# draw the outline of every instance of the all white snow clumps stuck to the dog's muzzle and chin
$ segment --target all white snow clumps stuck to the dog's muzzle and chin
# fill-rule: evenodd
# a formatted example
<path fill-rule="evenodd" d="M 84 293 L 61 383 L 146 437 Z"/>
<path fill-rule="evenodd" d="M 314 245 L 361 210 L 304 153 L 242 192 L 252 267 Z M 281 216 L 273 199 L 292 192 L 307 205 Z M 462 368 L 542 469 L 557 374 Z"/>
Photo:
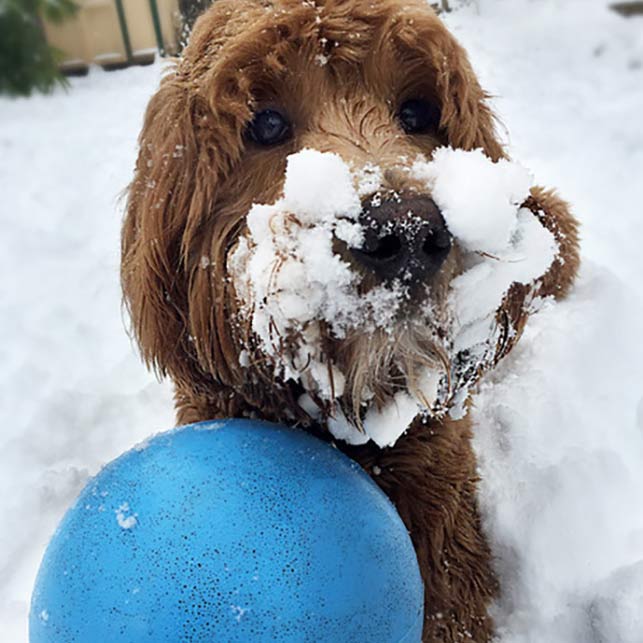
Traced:
<path fill-rule="evenodd" d="M 467 269 L 449 296 L 451 341 L 444 349 L 463 371 L 476 370 L 493 358 L 499 333 L 495 315 L 511 284 L 541 277 L 556 256 L 556 242 L 530 210 L 520 207 L 532 178 L 516 163 L 494 163 L 480 150 L 442 148 L 431 161 L 417 159 L 409 174 L 434 196 L 465 256 Z M 355 329 L 385 329 L 393 335 L 409 296 L 399 281 L 360 293 L 361 276 L 336 248 L 337 241 L 348 249 L 361 247 L 361 201 L 380 198 L 381 176 L 373 167 L 351 171 L 335 154 L 304 150 L 291 155 L 282 198 L 252 207 L 247 234 L 229 261 L 244 314 L 273 358 L 276 374 L 301 381 L 323 400 L 342 396 L 345 375 L 337 364 L 325 362 L 320 322 L 339 339 Z M 418 315 L 426 315 L 426 326 L 432 327 L 431 307 L 419 304 Z M 442 373 L 440 380 L 427 373 L 422 399 L 399 391 L 384 408 L 369 408 L 363 420 L 366 436 L 392 446 L 418 413 L 449 409 L 456 399 L 454 413 L 461 414 L 470 382 L 460 379 L 461 388 L 449 388 L 447 382 L 457 379 L 453 375 Z M 308 402 L 302 404 L 315 416 Z M 365 441 L 340 411 L 330 429 L 338 439 Z"/>

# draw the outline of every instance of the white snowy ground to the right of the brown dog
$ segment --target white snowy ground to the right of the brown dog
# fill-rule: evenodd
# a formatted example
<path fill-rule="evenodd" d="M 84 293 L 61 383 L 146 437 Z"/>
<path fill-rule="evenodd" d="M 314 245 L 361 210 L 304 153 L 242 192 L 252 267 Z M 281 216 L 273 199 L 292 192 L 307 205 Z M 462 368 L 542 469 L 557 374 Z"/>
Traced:
<path fill-rule="evenodd" d="M 531 318 L 474 398 L 502 643 L 643 641 L 643 29 L 605 5 L 482 1 L 449 17 L 512 157 L 582 222 L 573 293 Z"/>

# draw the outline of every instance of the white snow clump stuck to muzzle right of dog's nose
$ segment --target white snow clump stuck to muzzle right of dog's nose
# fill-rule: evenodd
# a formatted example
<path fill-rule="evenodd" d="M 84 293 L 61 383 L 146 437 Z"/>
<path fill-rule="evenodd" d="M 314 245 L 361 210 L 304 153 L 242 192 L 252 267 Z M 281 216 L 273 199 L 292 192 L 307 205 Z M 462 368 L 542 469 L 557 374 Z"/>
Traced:
<path fill-rule="evenodd" d="M 551 232 L 520 207 L 533 177 L 519 163 L 494 163 L 481 150 L 449 148 L 436 150 L 430 162 L 415 161 L 411 174 L 425 183 L 467 263 L 449 295 L 451 361 L 467 354 L 468 363 L 484 366 L 495 353 L 496 311 L 509 288 L 513 283 L 533 287 L 558 255 Z M 449 399 L 431 401 L 437 399 L 450 407 L 454 419 L 460 418 L 468 386 L 463 382 Z"/>

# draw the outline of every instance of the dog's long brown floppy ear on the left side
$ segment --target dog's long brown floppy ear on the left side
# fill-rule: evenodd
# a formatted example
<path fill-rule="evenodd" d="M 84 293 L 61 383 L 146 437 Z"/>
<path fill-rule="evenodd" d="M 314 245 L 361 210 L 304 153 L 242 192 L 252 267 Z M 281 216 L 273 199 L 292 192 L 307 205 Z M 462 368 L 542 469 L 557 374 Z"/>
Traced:
<path fill-rule="evenodd" d="M 124 300 L 145 362 L 179 388 L 208 393 L 239 369 L 225 279 L 234 221 L 215 206 L 243 150 L 251 96 L 239 62 L 247 42 L 230 44 L 229 32 L 251 10 L 265 13 L 253 0 L 234 3 L 220 0 L 199 18 L 148 105 L 122 232 Z M 219 55 L 224 43 L 230 51 Z"/>

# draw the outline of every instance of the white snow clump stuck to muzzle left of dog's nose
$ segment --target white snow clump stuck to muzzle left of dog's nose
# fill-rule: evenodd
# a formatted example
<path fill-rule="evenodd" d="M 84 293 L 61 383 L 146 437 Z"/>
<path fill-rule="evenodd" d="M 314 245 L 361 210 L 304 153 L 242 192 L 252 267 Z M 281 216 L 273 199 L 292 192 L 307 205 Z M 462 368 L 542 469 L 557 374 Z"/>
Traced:
<path fill-rule="evenodd" d="M 251 208 L 248 234 L 229 261 L 245 314 L 278 374 L 302 379 L 323 399 L 342 394 L 344 375 L 322 361 L 318 320 L 342 337 L 349 328 L 386 326 L 400 301 L 399 292 L 384 288 L 360 296 L 358 275 L 334 251 L 335 239 L 348 247 L 362 242 L 360 181 L 370 185 L 377 175 L 371 168 L 353 174 L 332 153 L 291 155 L 282 198 Z M 284 338 L 293 336 L 298 346 L 285 355 Z"/>

